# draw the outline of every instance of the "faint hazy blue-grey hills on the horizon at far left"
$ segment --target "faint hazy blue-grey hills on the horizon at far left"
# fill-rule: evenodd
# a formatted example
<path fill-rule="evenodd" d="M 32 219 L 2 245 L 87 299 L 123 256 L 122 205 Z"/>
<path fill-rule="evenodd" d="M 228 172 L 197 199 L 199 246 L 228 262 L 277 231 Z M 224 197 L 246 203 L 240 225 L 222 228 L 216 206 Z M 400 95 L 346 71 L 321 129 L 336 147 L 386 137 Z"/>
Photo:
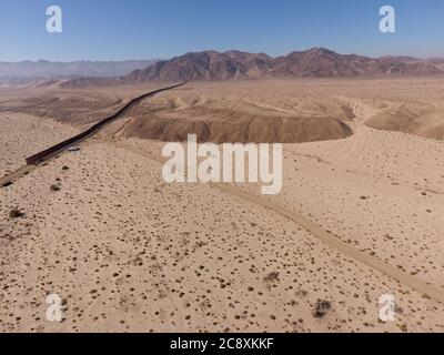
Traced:
<path fill-rule="evenodd" d="M 0 62 L 0 82 L 23 83 L 33 80 L 82 77 L 120 77 L 143 69 L 158 60 Z"/>

